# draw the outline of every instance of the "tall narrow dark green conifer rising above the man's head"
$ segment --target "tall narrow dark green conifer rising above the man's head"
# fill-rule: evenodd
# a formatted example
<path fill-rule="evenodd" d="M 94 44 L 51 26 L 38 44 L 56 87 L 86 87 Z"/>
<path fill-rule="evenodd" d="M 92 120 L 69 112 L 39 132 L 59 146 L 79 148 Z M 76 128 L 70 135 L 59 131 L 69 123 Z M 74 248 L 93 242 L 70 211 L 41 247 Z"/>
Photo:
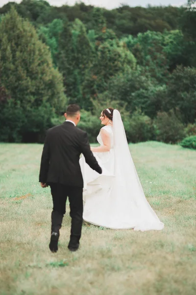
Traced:
<path fill-rule="evenodd" d="M 58 66 L 64 77 L 66 93 L 71 102 L 85 107 L 82 84 L 92 62 L 93 47 L 82 22 L 76 19 L 72 27 L 65 23 L 59 43 Z"/>

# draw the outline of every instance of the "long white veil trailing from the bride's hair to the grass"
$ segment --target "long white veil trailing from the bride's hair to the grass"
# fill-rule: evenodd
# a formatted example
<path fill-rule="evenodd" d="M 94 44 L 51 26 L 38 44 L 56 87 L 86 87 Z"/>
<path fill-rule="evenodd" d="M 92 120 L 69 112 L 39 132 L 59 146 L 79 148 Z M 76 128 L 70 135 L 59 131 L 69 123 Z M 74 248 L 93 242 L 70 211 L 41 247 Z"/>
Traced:
<path fill-rule="evenodd" d="M 130 154 L 121 114 L 118 110 L 114 110 L 113 113 L 113 135 L 116 178 L 113 192 L 121 195 L 124 205 L 129 204 L 132 207 L 135 231 L 162 230 L 164 224 L 159 220 L 145 197 Z"/>

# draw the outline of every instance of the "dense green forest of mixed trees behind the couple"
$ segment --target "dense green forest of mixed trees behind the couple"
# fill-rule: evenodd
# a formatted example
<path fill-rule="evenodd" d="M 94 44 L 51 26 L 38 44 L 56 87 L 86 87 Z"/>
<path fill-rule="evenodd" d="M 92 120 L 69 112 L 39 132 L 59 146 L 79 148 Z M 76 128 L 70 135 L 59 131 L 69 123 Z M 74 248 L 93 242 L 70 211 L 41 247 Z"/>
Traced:
<path fill-rule="evenodd" d="M 192 1 L 193 3 L 194 1 Z M 66 106 L 96 140 L 103 108 L 127 139 L 176 143 L 196 134 L 196 9 L 113 10 L 45 0 L 0 8 L 0 141 L 42 142 Z"/>

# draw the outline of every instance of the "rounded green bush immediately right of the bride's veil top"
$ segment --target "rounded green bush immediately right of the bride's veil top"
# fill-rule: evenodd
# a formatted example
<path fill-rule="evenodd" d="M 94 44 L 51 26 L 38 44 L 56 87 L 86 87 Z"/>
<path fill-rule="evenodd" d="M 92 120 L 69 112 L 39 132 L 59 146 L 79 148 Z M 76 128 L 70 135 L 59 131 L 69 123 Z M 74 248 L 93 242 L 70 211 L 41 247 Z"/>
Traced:
<path fill-rule="evenodd" d="M 124 128 L 127 140 L 132 143 L 145 142 L 154 137 L 153 121 L 144 115 L 141 110 L 135 111 L 128 121 L 125 120 Z"/>

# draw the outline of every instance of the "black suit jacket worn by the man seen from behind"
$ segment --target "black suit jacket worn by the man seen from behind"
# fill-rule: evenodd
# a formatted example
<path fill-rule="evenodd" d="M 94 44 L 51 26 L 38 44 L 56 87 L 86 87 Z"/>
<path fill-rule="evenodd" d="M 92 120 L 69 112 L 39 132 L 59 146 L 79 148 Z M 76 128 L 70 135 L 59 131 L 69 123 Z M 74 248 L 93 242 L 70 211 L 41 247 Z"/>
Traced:
<path fill-rule="evenodd" d="M 102 170 L 90 149 L 86 132 L 66 121 L 49 129 L 42 152 L 39 181 L 83 187 L 79 165 L 81 153 L 86 163 L 101 174 Z"/>

